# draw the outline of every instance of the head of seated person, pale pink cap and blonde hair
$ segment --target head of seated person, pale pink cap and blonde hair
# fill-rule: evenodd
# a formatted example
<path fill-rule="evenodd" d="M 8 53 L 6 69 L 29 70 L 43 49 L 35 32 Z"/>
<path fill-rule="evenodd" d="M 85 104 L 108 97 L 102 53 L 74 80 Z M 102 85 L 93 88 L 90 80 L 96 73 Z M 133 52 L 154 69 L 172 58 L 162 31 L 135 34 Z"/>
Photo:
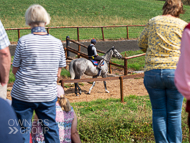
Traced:
<path fill-rule="evenodd" d="M 64 97 L 64 90 L 60 85 L 57 85 L 57 97 L 58 97 L 58 103 L 61 106 L 63 111 L 71 111 L 71 105 L 69 103 L 69 100 Z"/>

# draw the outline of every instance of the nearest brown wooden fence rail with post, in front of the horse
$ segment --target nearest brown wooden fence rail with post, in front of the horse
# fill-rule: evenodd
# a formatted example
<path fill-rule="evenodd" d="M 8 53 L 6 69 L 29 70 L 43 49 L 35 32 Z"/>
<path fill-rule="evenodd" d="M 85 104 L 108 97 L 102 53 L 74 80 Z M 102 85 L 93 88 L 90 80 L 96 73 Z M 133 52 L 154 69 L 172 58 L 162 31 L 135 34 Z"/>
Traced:
<path fill-rule="evenodd" d="M 107 80 L 120 80 L 120 96 L 121 102 L 124 102 L 124 92 L 123 92 L 123 80 L 131 78 L 141 78 L 144 74 L 126 75 L 120 77 L 107 77 L 107 78 L 85 78 L 85 79 L 63 79 L 61 80 L 61 86 L 64 88 L 64 83 L 78 83 L 78 82 L 93 82 L 93 81 L 107 81 Z"/>

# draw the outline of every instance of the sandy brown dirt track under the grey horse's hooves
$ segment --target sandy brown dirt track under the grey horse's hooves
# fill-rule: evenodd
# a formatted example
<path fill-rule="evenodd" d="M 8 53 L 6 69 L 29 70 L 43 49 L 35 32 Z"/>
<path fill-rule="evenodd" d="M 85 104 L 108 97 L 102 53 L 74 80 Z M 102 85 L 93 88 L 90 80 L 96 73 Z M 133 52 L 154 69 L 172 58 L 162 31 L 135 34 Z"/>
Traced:
<path fill-rule="evenodd" d="M 118 69 L 113 69 L 113 75 L 114 74 L 122 75 L 123 71 Z M 83 75 L 81 78 L 90 78 L 85 75 Z M 82 85 L 80 85 L 82 89 L 82 94 L 79 97 L 75 96 L 74 92 L 74 85 L 69 86 L 68 88 L 64 88 L 65 90 L 65 96 L 69 99 L 70 102 L 81 102 L 81 101 L 92 101 L 96 99 L 107 99 L 107 98 L 120 98 L 120 81 L 119 80 L 112 80 L 107 81 L 107 89 L 110 93 L 106 93 L 104 89 L 104 84 L 102 81 L 97 81 L 94 88 L 91 91 L 91 94 L 88 94 L 88 91 L 90 87 L 92 86 L 91 83 L 84 82 Z M 129 95 L 137 95 L 137 96 L 143 96 L 148 95 L 144 84 L 143 84 L 143 78 L 139 79 L 124 79 L 123 81 L 124 86 L 124 96 Z M 10 92 L 12 87 L 8 87 L 7 91 L 7 98 L 11 99 Z"/>

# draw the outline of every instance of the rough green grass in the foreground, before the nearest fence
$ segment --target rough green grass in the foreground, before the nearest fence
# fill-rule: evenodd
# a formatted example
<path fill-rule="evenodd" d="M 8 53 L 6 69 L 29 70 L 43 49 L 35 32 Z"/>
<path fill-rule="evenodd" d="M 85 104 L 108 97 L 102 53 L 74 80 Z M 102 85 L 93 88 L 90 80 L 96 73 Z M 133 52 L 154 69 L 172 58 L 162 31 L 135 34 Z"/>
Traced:
<path fill-rule="evenodd" d="M 78 117 L 82 142 L 147 143 L 155 142 L 149 96 L 130 95 L 120 99 L 98 99 L 72 103 Z M 183 142 L 188 142 L 185 100 L 182 111 Z"/>

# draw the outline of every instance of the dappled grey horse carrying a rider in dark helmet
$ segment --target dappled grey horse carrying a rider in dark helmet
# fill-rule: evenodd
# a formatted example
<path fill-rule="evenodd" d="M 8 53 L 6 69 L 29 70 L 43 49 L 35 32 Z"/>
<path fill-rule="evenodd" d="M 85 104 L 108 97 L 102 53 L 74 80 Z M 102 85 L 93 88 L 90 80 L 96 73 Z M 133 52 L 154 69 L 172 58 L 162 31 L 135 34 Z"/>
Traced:
<path fill-rule="evenodd" d="M 105 53 L 104 56 L 102 56 L 105 59 L 104 65 L 101 67 L 102 70 L 100 73 L 100 75 L 103 78 L 107 77 L 108 65 L 109 65 L 109 61 L 111 60 L 112 56 L 116 57 L 116 58 L 122 58 L 121 54 L 114 48 L 114 46 L 111 49 L 109 49 Z M 71 61 L 70 65 L 69 65 L 69 72 L 71 74 L 71 79 L 80 79 L 80 77 L 83 74 L 86 74 L 88 76 L 93 76 L 93 78 L 97 78 L 99 70 L 93 65 L 93 63 L 90 60 L 84 59 L 84 58 L 79 58 L 79 59 L 75 59 L 75 60 Z M 95 81 L 93 82 L 93 84 L 88 92 L 89 94 L 94 86 L 95 86 Z M 109 93 L 109 91 L 107 90 L 107 87 L 106 87 L 106 81 L 104 81 L 104 87 L 105 87 L 105 91 L 107 93 Z M 79 87 L 78 83 L 75 83 L 76 96 L 78 96 L 77 88 L 79 89 L 79 94 L 81 94 L 81 88 Z"/>

